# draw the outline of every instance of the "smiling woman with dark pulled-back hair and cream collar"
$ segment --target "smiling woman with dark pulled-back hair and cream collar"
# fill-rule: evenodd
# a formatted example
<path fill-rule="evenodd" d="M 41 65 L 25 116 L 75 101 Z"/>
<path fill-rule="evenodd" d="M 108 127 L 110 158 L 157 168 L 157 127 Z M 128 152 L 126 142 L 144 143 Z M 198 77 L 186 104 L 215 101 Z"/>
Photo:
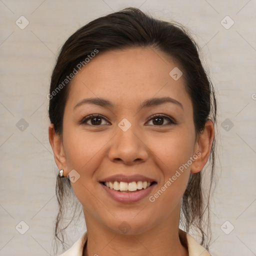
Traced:
<path fill-rule="evenodd" d="M 210 158 L 213 177 L 216 103 L 183 28 L 136 8 L 89 22 L 62 46 L 48 98 L 55 236 L 69 190 L 87 229 L 61 255 L 209 255 L 201 170 Z"/>

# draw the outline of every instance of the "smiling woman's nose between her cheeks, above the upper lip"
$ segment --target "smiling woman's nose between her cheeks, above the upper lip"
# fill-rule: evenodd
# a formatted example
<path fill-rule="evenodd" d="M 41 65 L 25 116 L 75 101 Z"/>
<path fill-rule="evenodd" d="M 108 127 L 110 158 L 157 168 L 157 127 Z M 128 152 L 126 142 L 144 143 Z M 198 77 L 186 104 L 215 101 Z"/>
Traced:
<path fill-rule="evenodd" d="M 126 131 L 117 127 L 116 132 L 108 150 L 108 158 L 111 161 L 132 165 L 147 160 L 148 148 L 143 136 L 139 135 L 133 125 Z"/>

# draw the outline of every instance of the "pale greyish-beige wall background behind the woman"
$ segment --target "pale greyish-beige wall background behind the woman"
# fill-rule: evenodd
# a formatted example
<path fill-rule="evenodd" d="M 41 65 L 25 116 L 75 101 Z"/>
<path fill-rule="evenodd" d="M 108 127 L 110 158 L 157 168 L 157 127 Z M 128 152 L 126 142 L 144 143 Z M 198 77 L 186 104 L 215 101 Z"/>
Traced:
<path fill-rule="evenodd" d="M 0 0 L 0 255 L 53 255 L 57 168 L 47 134 L 50 73 L 71 33 L 127 6 L 184 24 L 202 47 L 218 99 L 211 253 L 256 255 L 255 0 Z M 29 21 L 24 28 L 21 15 Z M 69 246 L 82 223 L 68 229 Z"/>

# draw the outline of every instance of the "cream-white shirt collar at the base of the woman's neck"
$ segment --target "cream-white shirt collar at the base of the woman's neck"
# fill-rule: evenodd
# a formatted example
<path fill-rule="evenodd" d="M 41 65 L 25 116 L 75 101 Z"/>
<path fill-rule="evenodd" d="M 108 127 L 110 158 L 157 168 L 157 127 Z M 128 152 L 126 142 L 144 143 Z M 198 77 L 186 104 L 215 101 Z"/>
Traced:
<path fill-rule="evenodd" d="M 187 244 L 189 256 L 210 256 L 206 249 L 204 249 L 191 235 L 179 230 L 179 235 Z M 80 238 L 64 253 L 59 256 L 82 256 L 83 246 L 87 240 L 87 231 L 85 231 Z"/>

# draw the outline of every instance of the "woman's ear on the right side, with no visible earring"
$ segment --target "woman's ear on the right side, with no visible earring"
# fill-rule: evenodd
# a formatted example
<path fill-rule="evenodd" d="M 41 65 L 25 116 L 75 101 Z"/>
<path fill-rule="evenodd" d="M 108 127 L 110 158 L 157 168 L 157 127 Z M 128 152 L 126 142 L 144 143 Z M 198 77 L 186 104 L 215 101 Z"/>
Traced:
<path fill-rule="evenodd" d="M 191 164 L 190 172 L 197 173 L 202 170 L 206 164 L 211 150 L 214 138 L 214 125 L 211 120 L 206 121 L 203 131 L 198 134 L 194 145 L 194 161 Z M 197 153 L 196 153 L 197 152 Z"/>

